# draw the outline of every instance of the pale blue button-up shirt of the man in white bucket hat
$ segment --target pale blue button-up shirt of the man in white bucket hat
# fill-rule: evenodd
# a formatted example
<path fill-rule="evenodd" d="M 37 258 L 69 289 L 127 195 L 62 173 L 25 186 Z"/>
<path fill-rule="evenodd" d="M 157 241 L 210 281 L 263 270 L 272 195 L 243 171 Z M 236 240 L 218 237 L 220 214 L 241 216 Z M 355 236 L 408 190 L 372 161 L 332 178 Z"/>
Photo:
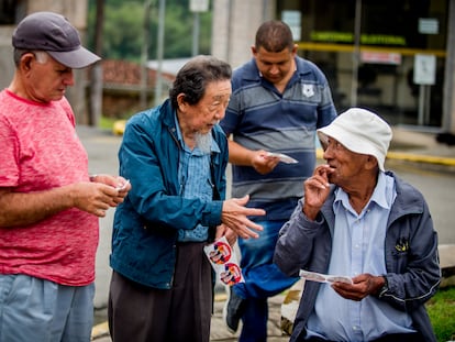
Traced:
<path fill-rule="evenodd" d="M 386 274 L 385 238 L 387 218 L 397 196 L 393 178 L 380 172 L 369 202 L 357 214 L 346 192 L 336 190 L 336 216 L 332 239 L 331 275 Z M 308 320 L 308 333 L 331 341 L 369 341 L 387 333 L 408 333 L 412 320 L 406 312 L 374 296 L 360 301 L 341 297 L 329 284 L 322 284 L 314 311 Z"/>

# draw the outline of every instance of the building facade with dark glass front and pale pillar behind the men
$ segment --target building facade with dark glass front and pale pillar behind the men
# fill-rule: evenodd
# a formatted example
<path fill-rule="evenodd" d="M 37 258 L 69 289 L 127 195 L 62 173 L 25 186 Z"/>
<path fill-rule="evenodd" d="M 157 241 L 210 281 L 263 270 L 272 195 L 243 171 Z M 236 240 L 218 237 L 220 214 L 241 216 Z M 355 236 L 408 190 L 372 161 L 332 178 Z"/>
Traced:
<path fill-rule="evenodd" d="M 299 55 L 324 70 L 341 112 L 455 132 L 455 0 L 213 0 L 212 54 L 251 58 L 258 25 L 287 22 Z"/>

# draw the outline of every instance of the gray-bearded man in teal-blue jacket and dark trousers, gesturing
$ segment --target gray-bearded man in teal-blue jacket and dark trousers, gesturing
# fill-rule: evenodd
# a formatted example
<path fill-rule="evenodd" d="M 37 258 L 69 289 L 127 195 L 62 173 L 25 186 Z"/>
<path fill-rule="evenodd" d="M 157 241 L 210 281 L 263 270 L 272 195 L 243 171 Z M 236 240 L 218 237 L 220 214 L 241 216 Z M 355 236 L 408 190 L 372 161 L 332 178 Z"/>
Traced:
<path fill-rule="evenodd" d="M 217 236 L 257 238 L 247 197 L 224 199 L 228 141 L 219 121 L 231 67 L 197 56 L 169 99 L 134 115 L 119 151 L 132 190 L 115 211 L 109 296 L 112 340 L 210 340 L 212 269 L 203 247 Z M 253 229 L 253 230 L 252 230 Z"/>

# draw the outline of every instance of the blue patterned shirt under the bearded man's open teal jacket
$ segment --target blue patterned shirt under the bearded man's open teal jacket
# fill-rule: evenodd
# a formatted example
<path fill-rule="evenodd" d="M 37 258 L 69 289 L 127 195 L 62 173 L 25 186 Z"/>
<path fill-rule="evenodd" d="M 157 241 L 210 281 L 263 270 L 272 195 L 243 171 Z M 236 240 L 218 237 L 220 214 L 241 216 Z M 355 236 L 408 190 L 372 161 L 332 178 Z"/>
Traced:
<path fill-rule="evenodd" d="M 191 151 L 184 142 L 178 124 L 176 126 L 177 137 L 181 146 L 178 166 L 180 196 L 184 198 L 199 198 L 201 201 L 211 201 L 213 199 L 213 184 L 210 172 L 211 155 L 210 153 L 202 153 L 198 147 Z M 210 150 L 211 153 L 220 153 L 220 147 L 214 140 L 212 140 Z M 180 242 L 202 242 L 207 241 L 208 238 L 209 230 L 201 224 L 193 229 L 189 227 L 178 232 L 178 241 Z"/>

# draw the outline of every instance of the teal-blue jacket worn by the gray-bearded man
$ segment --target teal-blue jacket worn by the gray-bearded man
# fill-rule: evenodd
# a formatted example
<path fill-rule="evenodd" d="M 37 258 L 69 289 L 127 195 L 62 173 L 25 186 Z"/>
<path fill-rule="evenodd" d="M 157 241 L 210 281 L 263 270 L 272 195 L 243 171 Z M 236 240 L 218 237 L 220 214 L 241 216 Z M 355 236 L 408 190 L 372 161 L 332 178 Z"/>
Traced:
<path fill-rule="evenodd" d="M 179 144 L 170 101 L 132 117 L 119 150 L 120 175 L 132 189 L 114 216 L 110 265 L 145 286 L 173 286 L 179 229 L 221 223 L 225 197 L 228 140 L 220 126 L 212 134 L 220 153 L 211 157 L 213 201 L 179 196 Z"/>

